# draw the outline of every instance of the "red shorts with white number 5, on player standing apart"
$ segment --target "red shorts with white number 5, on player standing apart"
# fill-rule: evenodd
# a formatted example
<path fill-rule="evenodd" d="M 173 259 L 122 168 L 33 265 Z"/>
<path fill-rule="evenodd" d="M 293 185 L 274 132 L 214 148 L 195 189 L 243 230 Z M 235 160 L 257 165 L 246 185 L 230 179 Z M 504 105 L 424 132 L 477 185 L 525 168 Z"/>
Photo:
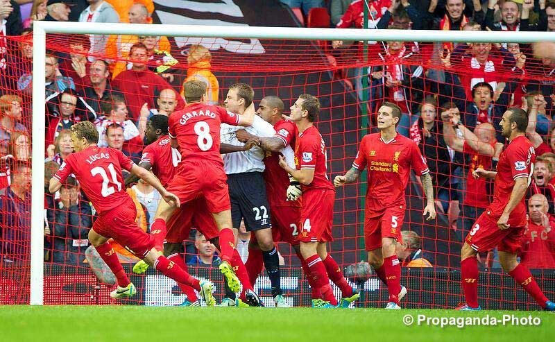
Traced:
<path fill-rule="evenodd" d="M 382 238 L 391 237 L 402 243 L 401 227 L 404 220 L 404 207 L 386 208 L 380 216 L 364 219 L 364 247 L 366 250 L 382 248 Z"/>

